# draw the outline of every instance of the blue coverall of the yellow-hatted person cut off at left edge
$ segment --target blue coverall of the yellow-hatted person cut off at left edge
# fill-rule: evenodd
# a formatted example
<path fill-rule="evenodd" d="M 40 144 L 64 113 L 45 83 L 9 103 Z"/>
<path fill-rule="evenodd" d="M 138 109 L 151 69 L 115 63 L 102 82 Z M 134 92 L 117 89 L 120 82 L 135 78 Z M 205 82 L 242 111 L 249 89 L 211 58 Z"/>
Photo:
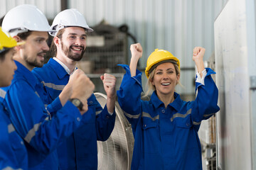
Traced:
<path fill-rule="evenodd" d="M 5 91 L 0 89 L 0 98 Z M 2 100 L 1 100 L 2 101 Z M 28 152 L 23 140 L 9 118 L 9 112 L 0 101 L 0 169 L 28 169 Z"/>

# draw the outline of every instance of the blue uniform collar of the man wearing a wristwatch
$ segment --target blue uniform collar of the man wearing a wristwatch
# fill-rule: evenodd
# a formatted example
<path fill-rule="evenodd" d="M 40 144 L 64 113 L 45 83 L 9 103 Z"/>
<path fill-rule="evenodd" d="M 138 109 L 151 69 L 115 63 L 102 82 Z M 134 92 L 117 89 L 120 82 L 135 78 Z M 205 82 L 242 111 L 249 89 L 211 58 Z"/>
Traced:
<path fill-rule="evenodd" d="M 14 60 L 14 62 L 17 66 L 14 77 L 21 75 L 22 77 L 24 77 L 24 79 L 26 79 L 26 81 L 28 81 L 29 84 L 31 84 L 31 86 L 35 87 L 38 83 L 38 79 L 36 79 L 33 73 L 29 71 L 29 69 L 27 69 L 25 66 L 23 66 L 23 64 L 21 64 L 20 62 L 17 62 L 16 60 Z"/>

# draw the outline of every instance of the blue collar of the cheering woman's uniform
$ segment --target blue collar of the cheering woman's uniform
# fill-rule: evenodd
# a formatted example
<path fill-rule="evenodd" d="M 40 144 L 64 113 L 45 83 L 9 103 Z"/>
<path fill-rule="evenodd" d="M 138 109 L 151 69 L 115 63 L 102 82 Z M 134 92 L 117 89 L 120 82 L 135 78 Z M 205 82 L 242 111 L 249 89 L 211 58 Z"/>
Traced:
<path fill-rule="evenodd" d="M 177 94 L 176 92 L 174 92 L 174 98 L 175 100 L 172 103 L 169 103 L 169 106 L 174 108 L 176 111 L 179 111 L 179 108 L 181 108 L 181 98 L 179 94 Z M 151 95 L 151 102 L 153 103 L 155 108 L 159 108 L 159 106 L 161 105 L 164 106 L 164 103 L 160 101 L 159 98 L 157 97 L 156 91 L 154 91 L 153 94 Z"/>

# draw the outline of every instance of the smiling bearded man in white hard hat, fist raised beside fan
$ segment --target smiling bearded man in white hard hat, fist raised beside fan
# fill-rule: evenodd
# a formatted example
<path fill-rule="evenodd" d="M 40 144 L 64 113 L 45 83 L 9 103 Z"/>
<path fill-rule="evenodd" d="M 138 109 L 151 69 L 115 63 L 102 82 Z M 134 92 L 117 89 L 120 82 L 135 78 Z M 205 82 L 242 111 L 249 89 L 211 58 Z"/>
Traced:
<path fill-rule="evenodd" d="M 77 9 L 58 13 L 51 26 L 56 32 L 52 47 L 57 50 L 53 58 L 33 73 L 43 82 L 51 100 L 58 97 L 76 69 L 75 64 L 85 52 L 87 32 L 92 29 Z M 99 77 L 107 94 L 107 103 L 102 109 L 92 94 L 88 98 L 89 111 L 83 115 L 83 124 L 58 147 L 60 169 L 97 169 L 97 140 L 105 141 L 114 128 L 116 100 L 116 78 L 110 74 Z"/>

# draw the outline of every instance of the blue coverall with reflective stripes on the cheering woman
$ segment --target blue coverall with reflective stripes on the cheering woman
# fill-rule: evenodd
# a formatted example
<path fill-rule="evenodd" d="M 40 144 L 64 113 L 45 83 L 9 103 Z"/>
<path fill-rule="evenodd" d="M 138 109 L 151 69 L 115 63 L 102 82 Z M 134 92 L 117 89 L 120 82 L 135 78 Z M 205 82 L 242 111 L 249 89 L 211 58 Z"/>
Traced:
<path fill-rule="evenodd" d="M 123 65 L 122 84 L 117 91 L 118 102 L 134 134 L 132 169 L 202 169 L 201 143 L 198 129 L 202 120 L 219 111 L 218 89 L 210 74 L 204 85 L 196 83 L 198 95 L 195 101 L 182 101 L 174 93 L 174 102 L 165 108 L 164 103 L 151 95 L 150 101 L 142 101 L 142 73 L 137 70 L 131 77 L 129 66 Z"/>

